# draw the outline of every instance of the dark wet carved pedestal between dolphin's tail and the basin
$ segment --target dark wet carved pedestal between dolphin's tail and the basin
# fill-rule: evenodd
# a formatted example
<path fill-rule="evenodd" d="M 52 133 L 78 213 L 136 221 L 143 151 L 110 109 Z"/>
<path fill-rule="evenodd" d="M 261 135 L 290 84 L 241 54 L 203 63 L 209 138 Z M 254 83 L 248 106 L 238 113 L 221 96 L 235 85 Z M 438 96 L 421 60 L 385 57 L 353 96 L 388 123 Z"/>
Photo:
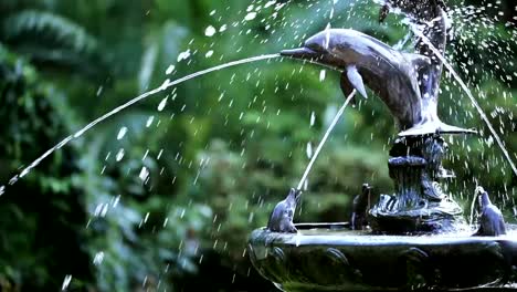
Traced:
<path fill-rule="evenodd" d="M 442 167 L 447 149 L 440 135 L 399 138 L 388 166 L 395 194 L 381 195 L 369 211 L 379 233 L 449 232 L 465 223 L 462 208 L 442 191 L 439 180 L 454 177 Z"/>

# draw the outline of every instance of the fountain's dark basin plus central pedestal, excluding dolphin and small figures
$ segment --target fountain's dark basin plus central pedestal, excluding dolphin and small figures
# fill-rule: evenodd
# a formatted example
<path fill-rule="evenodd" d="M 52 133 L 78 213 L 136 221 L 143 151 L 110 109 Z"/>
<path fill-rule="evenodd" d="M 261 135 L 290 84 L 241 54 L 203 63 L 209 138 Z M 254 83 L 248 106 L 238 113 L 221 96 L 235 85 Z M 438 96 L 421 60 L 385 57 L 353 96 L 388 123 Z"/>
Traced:
<path fill-rule="evenodd" d="M 442 167 L 446 148 L 440 135 L 394 143 L 388 165 L 395 192 L 369 210 L 373 232 L 350 223 L 296 225 L 297 233 L 257 229 L 247 246 L 253 265 L 289 292 L 517 291 L 516 228 L 472 237 L 439 182 L 454 177 Z"/>

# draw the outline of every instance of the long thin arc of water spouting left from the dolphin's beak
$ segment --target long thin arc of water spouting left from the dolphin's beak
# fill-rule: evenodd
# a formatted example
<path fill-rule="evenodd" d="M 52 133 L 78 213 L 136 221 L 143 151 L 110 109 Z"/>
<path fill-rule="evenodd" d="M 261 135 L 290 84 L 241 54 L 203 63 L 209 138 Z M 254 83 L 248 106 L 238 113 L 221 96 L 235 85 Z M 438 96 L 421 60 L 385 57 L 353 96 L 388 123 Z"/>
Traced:
<path fill-rule="evenodd" d="M 19 175 L 15 175 L 14 177 L 12 177 L 9 180 L 9 185 L 14 185 L 20 178 L 28 175 L 34 167 L 36 167 L 43 159 L 49 157 L 52 153 L 60 149 L 61 147 L 63 147 L 64 145 L 66 145 L 71 140 L 81 137 L 85 132 L 93 128 L 95 125 L 99 124 L 101 122 L 105 121 L 106 118 L 117 114 L 118 112 L 120 112 L 120 111 L 123 111 L 123 109 L 125 109 L 125 108 L 127 108 L 127 107 L 129 107 L 129 106 L 131 106 L 131 105 L 134 105 L 134 104 L 136 104 L 136 103 L 151 96 L 151 95 L 155 95 L 155 94 L 157 94 L 157 93 L 159 93 L 161 91 L 165 91 L 165 90 L 167 90 L 167 88 L 169 88 L 171 86 L 178 85 L 178 84 L 180 84 L 182 82 L 186 82 L 186 81 L 189 81 L 191 79 L 196 79 L 196 77 L 199 77 L 199 76 L 202 76 L 202 75 L 205 75 L 208 73 L 215 72 L 215 71 L 219 71 L 219 70 L 222 70 L 222 69 L 225 69 L 225 67 L 236 66 L 236 65 L 246 64 L 246 63 L 251 63 L 251 62 L 256 62 L 256 61 L 261 61 L 261 60 L 270 60 L 270 59 L 274 59 L 274 58 L 278 58 L 278 56 L 279 56 L 279 54 L 264 54 L 264 55 L 252 56 L 252 58 L 247 58 L 247 59 L 242 59 L 242 60 L 238 60 L 238 61 L 228 62 L 228 63 L 224 63 L 224 64 L 221 64 L 221 65 L 218 65 L 218 66 L 213 66 L 213 67 L 209 67 L 209 69 L 205 69 L 205 70 L 201 70 L 201 71 L 198 71 L 198 72 L 192 73 L 190 75 L 183 76 L 181 79 L 177 79 L 175 81 L 166 80 L 166 82 L 163 82 L 163 84 L 161 86 L 156 87 L 155 90 L 151 90 L 149 92 L 143 93 L 141 95 L 139 95 L 139 96 L 130 100 L 129 102 L 127 102 L 127 103 L 112 109 L 110 112 L 106 113 L 105 115 L 103 115 L 103 116 L 98 117 L 97 119 L 93 121 L 92 123 L 87 124 L 82 129 L 77 131 L 75 134 L 70 135 L 66 138 L 64 138 L 62 142 L 56 144 L 51 149 L 46 150 L 42 156 L 40 156 L 32 164 L 30 164 L 28 167 L 25 167 Z M 0 196 L 3 195 L 4 191 L 6 191 L 6 186 L 0 186 Z"/>

